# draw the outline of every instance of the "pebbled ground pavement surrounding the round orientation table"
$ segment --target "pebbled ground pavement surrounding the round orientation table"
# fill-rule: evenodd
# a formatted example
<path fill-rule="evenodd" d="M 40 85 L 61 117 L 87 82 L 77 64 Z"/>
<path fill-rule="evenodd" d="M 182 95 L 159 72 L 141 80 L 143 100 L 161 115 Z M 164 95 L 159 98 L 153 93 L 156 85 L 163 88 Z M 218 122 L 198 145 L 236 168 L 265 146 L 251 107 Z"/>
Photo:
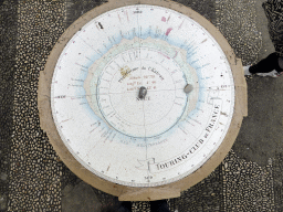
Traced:
<path fill-rule="evenodd" d="M 210 20 L 243 64 L 273 51 L 260 1 L 177 0 Z M 36 106 L 39 73 L 56 40 L 103 2 L 0 0 L 0 211 L 99 211 L 117 203 L 64 166 Z M 232 150 L 208 178 L 168 200 L 171 211 L 283 211 L 282 80 L 248 80 L 249 116 Z M 148 203 L 133 209 L 148 211 Z"/>

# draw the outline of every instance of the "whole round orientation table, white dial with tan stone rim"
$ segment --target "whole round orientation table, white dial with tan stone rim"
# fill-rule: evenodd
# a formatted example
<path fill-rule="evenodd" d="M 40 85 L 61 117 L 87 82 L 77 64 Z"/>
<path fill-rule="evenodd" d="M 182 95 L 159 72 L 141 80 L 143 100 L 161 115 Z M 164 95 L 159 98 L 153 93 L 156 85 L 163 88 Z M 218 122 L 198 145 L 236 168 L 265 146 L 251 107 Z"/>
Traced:
<path fill-rule="evenodd" d="M 168 1 L 109 1 L 75 21 L 40 74 L 41 127 L 81 179 L 120 200 L 180 195 L 230 150 L 247 109 L 220 32 Z"/>

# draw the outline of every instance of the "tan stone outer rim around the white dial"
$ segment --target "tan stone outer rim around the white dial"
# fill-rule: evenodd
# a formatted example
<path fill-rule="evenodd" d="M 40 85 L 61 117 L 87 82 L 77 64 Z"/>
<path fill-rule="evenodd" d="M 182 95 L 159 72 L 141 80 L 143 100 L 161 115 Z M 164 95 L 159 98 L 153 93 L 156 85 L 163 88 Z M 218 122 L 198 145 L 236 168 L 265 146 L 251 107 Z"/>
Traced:
<path fill-rule="evenodd" d="M 52 76 L 57 59 L 69 40 L 76 33 L 76 31 L 78 31 L 84 24 L 86 24 L 95 17 L 107 12 L 108 10 L 133 4 L 153 4 L 169 8 L 176 10 L 177 12 L 184 13 L 185 15 L 191 18 L 200 25 L 202 25 L 216 39 L 216 41 L 223 50 L 232 70 L 235 88 L 235 105 L 231 125 L 226 135 L 226 138 L 223 139 L 222 144 L 214 152 L 214 155 L 201 168 L 199 168 L 197 171 L 189 174 L 188 177 L 177 182 L 155 188 L 132 188 L 116 184 L 106 181 L 85 169 L 78 161 L 75 160 L 75 158 L 71 155 L 71 152 L 66 149 L 63 141 L 61 140 L 51 112 L 50 98 Z M 77 177 L 80 177 L 88 184 L 106 193 L 119 197 L 119 200 L 122 201 L 150 201 L 179 197 L 181 191 L 189 189 L 193 184 L 205 179 L 221 163 L 237 138 L 243 117 L 248 115 L 247 83 L 243 76 L 242 63 L 240 60 L 235 59 L 233 50 L 228 44 L 227 40 L 208 20 L 206 20 L 203 17 L 201 17 L 190 8 L 187 8 L 176 2 L 163 0 L 111 0 L 109 2 L 91 10 L 90 12 L 77 19 L 59 39 L 57 43 L 55 44 L 49 56 L 44 71 L 40 73 L 38 105 L 41 128 L 46 131 L 48 137 L 50 138 L 50 142 L 52 144 L 54 150 L 63 160 L 63 162 Z"/>

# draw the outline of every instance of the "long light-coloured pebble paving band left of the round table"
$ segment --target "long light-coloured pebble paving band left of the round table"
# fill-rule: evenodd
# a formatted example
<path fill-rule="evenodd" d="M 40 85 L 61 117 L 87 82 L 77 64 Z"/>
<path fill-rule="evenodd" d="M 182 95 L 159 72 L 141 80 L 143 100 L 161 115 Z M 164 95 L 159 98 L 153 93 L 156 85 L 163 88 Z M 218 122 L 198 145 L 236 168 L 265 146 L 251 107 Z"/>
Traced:
<path fill-rule="evenodd" d="M 8 211 L 61 210 L 62 162 L 40 128 L 36 88 L 63 10 L 63 1 L 19 1 Z"/>

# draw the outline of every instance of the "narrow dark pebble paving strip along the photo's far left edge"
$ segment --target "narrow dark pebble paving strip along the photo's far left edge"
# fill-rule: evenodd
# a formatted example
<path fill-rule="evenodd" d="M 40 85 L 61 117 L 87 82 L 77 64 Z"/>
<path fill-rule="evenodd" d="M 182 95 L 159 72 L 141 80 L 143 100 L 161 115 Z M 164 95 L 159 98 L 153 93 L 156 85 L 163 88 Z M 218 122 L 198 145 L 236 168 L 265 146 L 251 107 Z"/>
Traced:
<path fill-rule="evenodd" d="M 17 6 L 0 1 L 0 211 L 7 209 L 9 194 L 9 153 L 12 134 L 13 74 L 15 65 Z"/>

